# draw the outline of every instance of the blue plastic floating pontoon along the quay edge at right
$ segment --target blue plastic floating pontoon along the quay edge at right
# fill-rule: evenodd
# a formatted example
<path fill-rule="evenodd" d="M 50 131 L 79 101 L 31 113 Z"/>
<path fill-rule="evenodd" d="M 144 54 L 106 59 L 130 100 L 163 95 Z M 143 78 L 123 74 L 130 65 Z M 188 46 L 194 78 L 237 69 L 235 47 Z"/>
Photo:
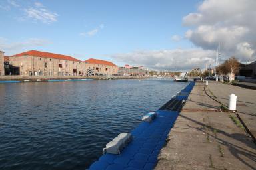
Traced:
<path fill-rule="evenodd" d="M 106 153 L 95 161 L 89 169 L 153 169 L 157 163 L 157 156 L 165 145 L 167 135 L 179 116 L 183 102 L 187 100 L 194 82 L 173 96 L 169 102 L 157 110 L 157 117 L 153 122 L 141 122 L 131 131 L 131 143 L 119 155 Z"/>

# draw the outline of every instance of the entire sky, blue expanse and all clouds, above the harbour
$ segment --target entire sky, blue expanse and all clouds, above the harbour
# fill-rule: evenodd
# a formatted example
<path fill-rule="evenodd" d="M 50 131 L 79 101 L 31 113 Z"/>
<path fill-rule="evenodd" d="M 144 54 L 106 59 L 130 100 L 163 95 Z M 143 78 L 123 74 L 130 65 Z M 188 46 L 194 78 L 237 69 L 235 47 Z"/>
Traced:
<path fill-rule="evenodd" d="M 0 0 L 0 50 L 191 70 L 256 59 L 255 0 Z"/>

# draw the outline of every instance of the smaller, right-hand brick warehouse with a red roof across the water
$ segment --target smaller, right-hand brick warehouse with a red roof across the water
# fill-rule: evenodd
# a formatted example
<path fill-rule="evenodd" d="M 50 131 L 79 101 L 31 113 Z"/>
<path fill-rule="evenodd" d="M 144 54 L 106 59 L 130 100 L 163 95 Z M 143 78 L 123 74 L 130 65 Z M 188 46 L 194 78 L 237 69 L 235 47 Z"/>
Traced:
<path fill-rule="evenodd" d="M 118 66 L 113 62 L 90 58 L 84 63 L 86 76 L 115 76 L 118 72 Z"/>

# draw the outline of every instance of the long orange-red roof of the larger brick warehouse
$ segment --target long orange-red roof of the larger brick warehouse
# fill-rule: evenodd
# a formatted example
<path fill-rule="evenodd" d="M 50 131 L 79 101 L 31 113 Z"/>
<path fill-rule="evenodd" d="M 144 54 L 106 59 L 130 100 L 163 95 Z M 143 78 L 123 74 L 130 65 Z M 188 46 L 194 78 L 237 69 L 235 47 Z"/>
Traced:
<path fill-rule="evenodd" d="M 15 54 L 13 56 L 24 56 L 24 55 L 82 62 L 81 60 L 77 60 L 76 58 L 73 58 L 72 56 L 65 56 L 65 55 L 61 55 L 61 54 L 53 54 L 53 53 L 50 53 L 50 52 L 41 52 L 41 51 L 37 51 L 37 50 L 29 50 L 27 52 L 22 52 L 20 54 Z M 13 56 L 11 56 L 11 57 L 13 57 Z"/>

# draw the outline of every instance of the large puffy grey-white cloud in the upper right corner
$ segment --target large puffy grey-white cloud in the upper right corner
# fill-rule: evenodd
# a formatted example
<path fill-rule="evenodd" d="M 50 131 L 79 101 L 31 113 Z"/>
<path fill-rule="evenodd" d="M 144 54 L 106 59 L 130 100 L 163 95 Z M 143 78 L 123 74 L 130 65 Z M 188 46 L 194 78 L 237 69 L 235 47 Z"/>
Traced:
<path fill-rule="evenodd" d="M 183 25 L 194 27 L 185 37 L 206 50 L 215 50 L 221 44 L 226 57 L 255 60 L 255 7 L 255 0 L 205 0 L 197 12 L 183 17 Z"/>

